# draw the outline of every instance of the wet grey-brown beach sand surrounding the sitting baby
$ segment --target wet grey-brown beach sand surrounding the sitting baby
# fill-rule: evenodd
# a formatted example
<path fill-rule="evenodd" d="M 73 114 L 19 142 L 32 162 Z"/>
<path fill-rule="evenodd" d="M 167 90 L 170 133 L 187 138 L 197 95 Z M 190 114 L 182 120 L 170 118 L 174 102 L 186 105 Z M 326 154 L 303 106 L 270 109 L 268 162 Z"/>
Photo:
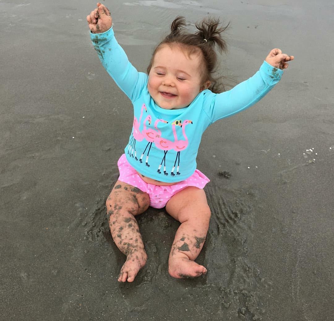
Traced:
<path fill-rule="evenodd" d="M 149 209 L 138 218 L 147 265 L 119 284 L 125 256 L 104 203 L 133 116 L 90 42 L 95 3 L 0 1 L 0 319 L 332 320 L 333 4 L 105 4 L 140 71 L 178 14 L 189 27 L 208 13 L 231 21 L 221 73 L 236 82 L 274 47 L 295 61 L 257 105 L 203 136 L 207 275 L 169 277 L 178 222 Z"/>

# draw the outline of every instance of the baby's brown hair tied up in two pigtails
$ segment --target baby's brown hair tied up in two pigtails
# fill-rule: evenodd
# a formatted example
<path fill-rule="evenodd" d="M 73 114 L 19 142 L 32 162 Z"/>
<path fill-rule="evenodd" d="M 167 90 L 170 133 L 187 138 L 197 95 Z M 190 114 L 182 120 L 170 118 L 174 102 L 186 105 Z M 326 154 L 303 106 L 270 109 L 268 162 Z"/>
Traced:
<path fill-rule="evenodd" d="M 202 53 L 203 77 L 202 83 L 210 81 L 211 85 L 209 89 L 215 93 L 219 93 L 224 90 L 221 83 L 217 83 L 217 79 L 213 77 L 213 73 L 217 68 L 217 54 L 215 47 L 217 47 L 220 54 L 226 52 L 226 42 L 221 37 L 221 33 L 226 30 L 229 23 L 226 26 L 220 26 L 219 18 L 204 18 L 201 22 L 196 23 L 195 26 L 198 29 L 196 33 L 188 33 L 184 30 L 186 25 L 185 19 L 182 16 L 177 16 L 172 22 L 170 28 L 171 32 L 163 39 L 158 46 L 154 49 L 150 64 L 147 68 L 149 74 L 153 65 L 153 60 L 156 52 L 162 45 L 180 45 L 184 47 L 188 54 L 191 55 L 196 52 Z"/>

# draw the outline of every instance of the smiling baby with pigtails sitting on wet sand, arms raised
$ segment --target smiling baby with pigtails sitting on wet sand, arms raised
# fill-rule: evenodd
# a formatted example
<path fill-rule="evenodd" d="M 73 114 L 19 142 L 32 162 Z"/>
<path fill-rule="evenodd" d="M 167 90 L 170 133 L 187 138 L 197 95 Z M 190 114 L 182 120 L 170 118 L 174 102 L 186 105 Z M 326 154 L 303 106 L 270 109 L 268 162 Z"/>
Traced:
<path fill-rule="evenodd" d="M 218 19 L 204 19 L 196 24 L 196 33 L 188 33 L 184 18 L 177 17 L 154 50 L 147 74 L 131 65 L 117 43 L 106 6 L 98 3 L 87 21 L 102 65 L 134 107 L 129 143 L 118 160 L 119 180 L 106 202 L 112 237 L 127 256 L 118 281 L 133 282 L 146 263 L 135 216 L 149 206 L 166 207 L 181 223 L 169 254 L 169 274 L 174 278 L 206 274 L 206 268 L 195 262 L 211 214 L 203 190 L 209 179 L 196 169 L 201 136 L 216 120 L 264 97 L 294 57 L 273 49 L 253 77 L 217 93 L 212 75 L 215 47 L 225 49 L 221 37 L 225 28 Z"/>

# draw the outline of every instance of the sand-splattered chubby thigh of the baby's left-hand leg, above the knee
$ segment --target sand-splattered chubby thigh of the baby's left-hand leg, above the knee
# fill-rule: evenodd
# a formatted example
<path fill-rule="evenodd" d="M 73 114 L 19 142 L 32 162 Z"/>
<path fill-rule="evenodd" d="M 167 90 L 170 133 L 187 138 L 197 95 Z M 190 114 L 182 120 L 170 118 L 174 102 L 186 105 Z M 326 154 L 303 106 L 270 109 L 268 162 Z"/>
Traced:
<path fill-rule="evenodd" d="M 150 196 L 139 188 L 118 180 L 107 198 L 106 205 L 107 212 L 121 207 L 135 216 L 148 209 Z"/>

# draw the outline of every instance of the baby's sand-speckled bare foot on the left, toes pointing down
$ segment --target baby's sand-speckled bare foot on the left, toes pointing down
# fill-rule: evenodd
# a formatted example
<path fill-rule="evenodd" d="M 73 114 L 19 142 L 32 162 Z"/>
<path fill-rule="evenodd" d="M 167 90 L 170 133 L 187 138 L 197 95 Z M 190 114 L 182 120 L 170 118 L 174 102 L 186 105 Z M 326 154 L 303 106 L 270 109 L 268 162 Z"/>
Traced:
<path fill-rule="evenodd" d="M 145 265 L 146 260 L 147 254 L 145 251 L 135 251 L 128 254 L 118 277 L 118 282 L 133 282 L 138 271 Z"/>

